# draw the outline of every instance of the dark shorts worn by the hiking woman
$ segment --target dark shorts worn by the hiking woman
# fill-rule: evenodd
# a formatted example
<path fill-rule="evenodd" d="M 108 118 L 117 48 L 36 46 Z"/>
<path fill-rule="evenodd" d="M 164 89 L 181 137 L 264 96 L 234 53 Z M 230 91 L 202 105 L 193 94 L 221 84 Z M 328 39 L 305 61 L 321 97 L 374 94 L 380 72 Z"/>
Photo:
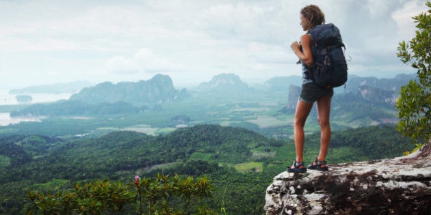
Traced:
<path fill-rule="evenodd" d="M 305 103 L 313 103 L 321 97 L 331 97 L 334 95 L 334 89 L 319 87 L 314 81 L 302 84 L 300 100 Z"/>

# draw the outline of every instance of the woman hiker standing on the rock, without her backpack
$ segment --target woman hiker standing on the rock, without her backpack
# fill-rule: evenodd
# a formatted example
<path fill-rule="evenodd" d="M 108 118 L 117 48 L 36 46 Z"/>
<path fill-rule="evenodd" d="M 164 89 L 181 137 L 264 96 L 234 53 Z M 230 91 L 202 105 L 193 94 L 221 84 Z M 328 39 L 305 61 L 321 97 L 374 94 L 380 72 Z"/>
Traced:
<path fill-rule="evenodd" d="M 325 15 L 317 5 L 307 5 L 301 9 L 300 20 L 302 29 L 307 31 L 307 33 L 301 36 L 300 43 L 295 41 L 291 44 L 293 53 L 299 57 L 302 63 L 302 89 L 293 122 L 296 160 L 291 167 L 287 168 L 287 171 L 299 173 L 305 172 L 306 169 L 328 171 L 325 160 L 330 142 L 330 100 L 334 91 L 332 88 L 325 89 L 319 87 L 313 80 L 306 76 L 307 66 L 313 63 L 313 55 L 311 54 L 311 44 L 313 44 L 313 42 L 309 31 L 315 25 L 324 24 Z M 314 102 L 317 104 L 317 115 L 320 125 L 320 151 L 315 161 L 306 168 L 303 161 L 305 139 L 304 125 L 306 118 L 313 108 Z"/>

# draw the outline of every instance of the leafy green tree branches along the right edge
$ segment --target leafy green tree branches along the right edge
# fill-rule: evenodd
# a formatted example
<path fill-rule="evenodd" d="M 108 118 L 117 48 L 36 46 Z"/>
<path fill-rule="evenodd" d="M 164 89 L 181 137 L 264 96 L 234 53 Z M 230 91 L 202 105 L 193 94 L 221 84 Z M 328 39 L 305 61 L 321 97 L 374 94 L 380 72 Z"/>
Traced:
<path fill-rule="evenodd" d="M 426 5 L 431 8 L 430 1 Z M 413 19 L 416 36 L 410 42 L 400 42 L 397 56 L 417 69 L 418 81 L 410 81 L 400 91 L 398 130 L 415 143 L 425 143 L 431 139 L 431 10 Z"/>

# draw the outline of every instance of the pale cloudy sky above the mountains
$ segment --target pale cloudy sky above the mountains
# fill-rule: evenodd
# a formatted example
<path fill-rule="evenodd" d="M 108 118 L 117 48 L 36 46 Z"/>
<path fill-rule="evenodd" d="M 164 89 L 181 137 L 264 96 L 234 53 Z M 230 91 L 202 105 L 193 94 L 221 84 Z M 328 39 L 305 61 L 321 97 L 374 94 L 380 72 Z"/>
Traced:
<path fill-rule="evenodd" d="M 317 3 L 347 46 L 350 74 L 415 72 L 396 57 L 425 0 L 0 0 L 0 89 L 148 80 L 192 87 L 220 73 L 247 83 L 300 75 L 290 44 Z"/>

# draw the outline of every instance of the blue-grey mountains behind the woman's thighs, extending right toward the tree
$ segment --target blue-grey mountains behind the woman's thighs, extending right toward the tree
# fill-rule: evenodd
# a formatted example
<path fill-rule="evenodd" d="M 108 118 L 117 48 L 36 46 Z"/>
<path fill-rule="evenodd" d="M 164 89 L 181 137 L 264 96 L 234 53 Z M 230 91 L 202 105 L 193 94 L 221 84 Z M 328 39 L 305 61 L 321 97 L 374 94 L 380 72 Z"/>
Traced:
<path fill-rule="evenodd" d="M 350 76 L 346 87 L 335 89 L 332 97 L 331 118 L 333 121 L 345 121 L 350 125 L 394 124 L 398 121 L 395 102 L 398 91 L 406 85 L 414 74 L 400 74 L 394 78 L 374 78 Z M 281 113 L 295 113 L 301 87 L 291 84 L 288 98 Z M 278 88 L 280 89 L 280 88 Z M 315 116 L 315 111 L 311 111 Z"/>

